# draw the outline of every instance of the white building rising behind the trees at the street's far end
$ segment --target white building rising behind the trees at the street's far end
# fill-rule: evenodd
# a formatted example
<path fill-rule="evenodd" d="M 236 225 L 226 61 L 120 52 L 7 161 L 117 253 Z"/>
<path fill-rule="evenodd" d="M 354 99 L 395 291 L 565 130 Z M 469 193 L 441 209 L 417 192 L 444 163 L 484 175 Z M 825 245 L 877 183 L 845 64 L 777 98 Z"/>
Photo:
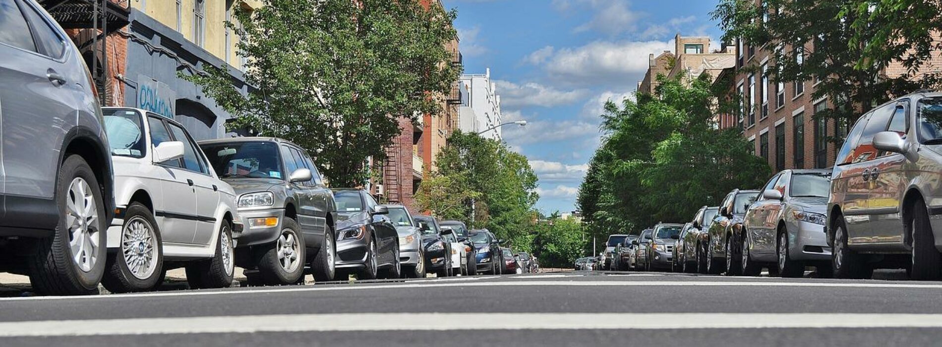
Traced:
<path fill-rule="evenodd" d="M 459 109 L 459 128 L 463 132 L 481 132 L 501 124 L 500 95 L 491 82 L 491 69 L 484 74 L 463 74 L 459 83 L 462 106 Z M 500 128 L 480 134 L 485 139 L 501 140 Z"/>

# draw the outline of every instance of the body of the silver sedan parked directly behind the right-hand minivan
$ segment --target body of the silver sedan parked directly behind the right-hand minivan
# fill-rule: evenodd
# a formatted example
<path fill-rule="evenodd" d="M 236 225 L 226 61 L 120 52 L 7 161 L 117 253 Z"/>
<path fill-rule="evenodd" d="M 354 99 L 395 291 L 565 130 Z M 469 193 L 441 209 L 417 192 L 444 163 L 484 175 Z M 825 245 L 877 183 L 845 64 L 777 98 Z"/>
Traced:
<path fill-rule="evenodd" d="M 830 173 L 830 170 L 786 170 L 771 177 L 743 218 L 749 256 L 753 260 L 778 260 L 779 233 L 788 233 L 789 258 L 831 259 L 831 247 L 827 245 L 823 224 L 827 190 L 820 191 L 821 196 L 804 196 L 808 187 L 792 187 L 797 176 L 808 174 L 826 178 Z"/>

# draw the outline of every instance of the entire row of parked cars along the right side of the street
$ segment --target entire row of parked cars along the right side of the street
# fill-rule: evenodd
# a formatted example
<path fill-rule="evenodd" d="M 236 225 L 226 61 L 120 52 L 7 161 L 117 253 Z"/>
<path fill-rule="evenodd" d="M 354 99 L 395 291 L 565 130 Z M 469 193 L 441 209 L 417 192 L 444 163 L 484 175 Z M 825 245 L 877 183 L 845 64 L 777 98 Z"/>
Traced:
<path fill-rule="evenodd" d="M 869 278 L 942 277 L 942 92 L 918 91 L 862 115 L 831 169 L 775 173 L 732 190 L 688 223 L 612 235 L 605 269 Z"/>

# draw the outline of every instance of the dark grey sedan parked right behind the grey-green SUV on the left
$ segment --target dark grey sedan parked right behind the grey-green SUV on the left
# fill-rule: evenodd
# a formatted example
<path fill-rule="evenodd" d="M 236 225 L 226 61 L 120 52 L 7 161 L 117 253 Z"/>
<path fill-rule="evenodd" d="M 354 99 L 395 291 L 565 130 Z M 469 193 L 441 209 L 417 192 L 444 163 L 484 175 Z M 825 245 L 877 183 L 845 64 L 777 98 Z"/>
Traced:
<path fill-rule="evenodd" d="M 399 234 L 389 209 L 366 190 L 333 189 L 337 204 L 337 265 L 340 278 L 399 278 Z"/>

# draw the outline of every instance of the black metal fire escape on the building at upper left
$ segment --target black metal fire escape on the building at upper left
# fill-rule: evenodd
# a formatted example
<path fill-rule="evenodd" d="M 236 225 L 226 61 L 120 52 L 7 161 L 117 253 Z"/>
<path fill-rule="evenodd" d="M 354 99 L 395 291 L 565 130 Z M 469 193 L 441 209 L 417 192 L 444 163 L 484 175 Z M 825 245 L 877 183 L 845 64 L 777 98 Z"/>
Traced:
<path fill-rule="evenodd" d="M 72 39 L 89 65 L 102 106 L 110 105 L 108 34 L 128 25 L 130 10 L 124 8 L 128 1 L 118 0 L 118 4 L 109 0 L 39 0 L 62 28 L 79 29 Z"/>

